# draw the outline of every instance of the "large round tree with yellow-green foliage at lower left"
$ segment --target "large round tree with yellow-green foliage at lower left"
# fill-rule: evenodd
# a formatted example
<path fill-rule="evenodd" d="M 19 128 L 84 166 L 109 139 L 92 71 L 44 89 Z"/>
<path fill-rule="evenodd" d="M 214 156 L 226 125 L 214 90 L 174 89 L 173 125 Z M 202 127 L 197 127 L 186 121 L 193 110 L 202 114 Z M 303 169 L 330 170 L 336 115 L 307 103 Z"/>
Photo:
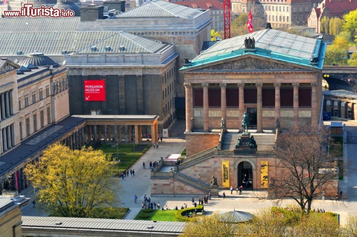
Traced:
<path fill-rule="evenodd" d="M 38 189 L 41 202 L 63 217 L 87 217 L 95 207 L 112 205 L 115 190 L 108 170 L 112 164 L 93 148 L 72 151 L 50 145 L 25 174 Z"/>

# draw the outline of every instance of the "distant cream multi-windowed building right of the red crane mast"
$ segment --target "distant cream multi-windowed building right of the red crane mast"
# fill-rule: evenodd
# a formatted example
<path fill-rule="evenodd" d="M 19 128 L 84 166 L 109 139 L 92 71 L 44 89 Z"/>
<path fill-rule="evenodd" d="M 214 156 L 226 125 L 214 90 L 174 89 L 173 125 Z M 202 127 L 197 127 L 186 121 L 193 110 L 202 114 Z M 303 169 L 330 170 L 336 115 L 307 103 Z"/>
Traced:
<path fill-rule="evenodd" d="M 320 0 L 232 0 L 232 11 L 240 13 L 263 8 L 264 17 L 273 28 L 285 28 L 306 25 L 311 9 L 317 6 L 318 2 Z"/>

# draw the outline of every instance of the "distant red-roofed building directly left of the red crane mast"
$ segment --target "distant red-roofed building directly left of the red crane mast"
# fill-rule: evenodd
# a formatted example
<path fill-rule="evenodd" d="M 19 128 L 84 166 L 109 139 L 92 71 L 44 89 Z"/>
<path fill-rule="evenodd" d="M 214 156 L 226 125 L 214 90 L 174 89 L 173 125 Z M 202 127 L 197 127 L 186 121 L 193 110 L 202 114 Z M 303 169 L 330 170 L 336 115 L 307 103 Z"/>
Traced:
<path fill-rule="evenodd" d="M 171 0 L 169 0 L 171 1 Z M 171 1 L 179 5 L 196 9 L 208 9 L 211 12 L 211 29 L 223 32 L 223 3 L 219 0 Z"/>

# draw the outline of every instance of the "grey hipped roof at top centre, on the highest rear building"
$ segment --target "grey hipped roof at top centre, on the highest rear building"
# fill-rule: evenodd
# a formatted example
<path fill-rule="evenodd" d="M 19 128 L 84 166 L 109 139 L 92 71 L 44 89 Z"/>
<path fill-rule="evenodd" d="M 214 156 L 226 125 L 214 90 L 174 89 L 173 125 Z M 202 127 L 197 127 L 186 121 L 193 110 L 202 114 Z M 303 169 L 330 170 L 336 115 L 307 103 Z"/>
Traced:
<path fill-rule="evenodd" d="M 202 11 L 192 9 L 186 6 L 181 6 L 175 3 L 153 0 L 141 6 L 137 6 L 128 11 L 122 12 L 113 16 L 114 18 L 131 18 L 131 17 L 179 17 L 179 18 L 193 18 L 199 15 Z"/>

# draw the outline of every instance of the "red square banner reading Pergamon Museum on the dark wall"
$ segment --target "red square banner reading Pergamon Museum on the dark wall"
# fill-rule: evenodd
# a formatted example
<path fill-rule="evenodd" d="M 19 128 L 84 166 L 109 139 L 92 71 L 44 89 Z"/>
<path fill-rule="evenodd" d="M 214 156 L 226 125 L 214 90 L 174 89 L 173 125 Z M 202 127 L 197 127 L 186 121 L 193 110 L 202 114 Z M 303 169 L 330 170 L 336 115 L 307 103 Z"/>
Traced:
<path fill-rule="evenodd" d="M 105 101 L 105 81 L 85 80 L 84 101 Z"/>

